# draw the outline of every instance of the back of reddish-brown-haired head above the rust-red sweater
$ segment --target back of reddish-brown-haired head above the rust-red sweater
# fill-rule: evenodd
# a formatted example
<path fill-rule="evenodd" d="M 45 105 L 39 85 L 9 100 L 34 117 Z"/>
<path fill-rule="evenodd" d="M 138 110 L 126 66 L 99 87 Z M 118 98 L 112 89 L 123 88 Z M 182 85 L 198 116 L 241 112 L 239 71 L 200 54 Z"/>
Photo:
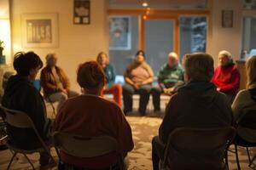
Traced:
<path fill-rule="evenodd" d="M 96 61 L 88 61 L 79 65 L 77 81 L 81 88 L 100 88 L 105 83 L 102 66 Z"/>

